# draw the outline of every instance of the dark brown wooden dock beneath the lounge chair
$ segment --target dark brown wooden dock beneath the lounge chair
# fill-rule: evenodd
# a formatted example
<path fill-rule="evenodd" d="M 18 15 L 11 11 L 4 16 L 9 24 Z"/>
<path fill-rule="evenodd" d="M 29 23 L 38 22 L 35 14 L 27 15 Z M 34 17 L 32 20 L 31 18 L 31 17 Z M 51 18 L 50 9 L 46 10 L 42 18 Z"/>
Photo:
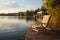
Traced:
<path fill-rule="evenodd" d="M 30 28 L 27 31 L 25 40 L 60 40 L 60 34 L 49 33 L 49 31 L 40 31 L 37 33 Z"/>

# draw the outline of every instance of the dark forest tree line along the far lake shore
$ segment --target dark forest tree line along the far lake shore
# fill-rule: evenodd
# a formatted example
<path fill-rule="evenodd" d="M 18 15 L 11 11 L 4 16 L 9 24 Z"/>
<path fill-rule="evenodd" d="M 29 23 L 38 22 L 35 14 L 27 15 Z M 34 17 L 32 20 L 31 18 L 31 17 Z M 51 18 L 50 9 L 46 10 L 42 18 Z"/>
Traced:
<path fill-rule="evenodd" d="M 27 17 L 29 17 L 29 16 L 34 16 L 34 15 L 36 15 L 39 10 L 40 10 L 40 9 L 38 8 L 38 9 L 36 9 L 36 10 L 31 10 L 31 11 L 26 10 L 26 12 L 7 13 L 7 14 L 1 13 L 0 16 L 27 16 Z"/>

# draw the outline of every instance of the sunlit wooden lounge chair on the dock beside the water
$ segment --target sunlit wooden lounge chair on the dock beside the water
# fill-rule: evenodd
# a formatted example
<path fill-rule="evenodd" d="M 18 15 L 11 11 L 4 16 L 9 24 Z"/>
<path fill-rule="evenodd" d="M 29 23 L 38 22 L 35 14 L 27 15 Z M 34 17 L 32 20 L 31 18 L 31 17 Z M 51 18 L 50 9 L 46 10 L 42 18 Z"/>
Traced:
<path fill-rule="evenodd" d="M 40 26 L 32 26 L 32 30 L 38 32 L 39 30 L 45 29 L 48 26 L 50 15 L 44 15 Z"/>

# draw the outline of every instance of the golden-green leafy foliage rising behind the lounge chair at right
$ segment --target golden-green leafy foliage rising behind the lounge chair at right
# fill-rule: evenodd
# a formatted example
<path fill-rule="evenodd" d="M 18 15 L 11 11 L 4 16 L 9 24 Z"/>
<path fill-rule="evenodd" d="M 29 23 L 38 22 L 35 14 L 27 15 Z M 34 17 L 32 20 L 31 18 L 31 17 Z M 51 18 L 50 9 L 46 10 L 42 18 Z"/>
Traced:
<path fill-rule="evenodd" d="M 45 7 L 48 9 L 48 13 L 51 15 L 50 25 L 51 27 L 60 27 L 60 0 L 44 0 Z M 44 2 L 43 1 L 43 2 Z"/>

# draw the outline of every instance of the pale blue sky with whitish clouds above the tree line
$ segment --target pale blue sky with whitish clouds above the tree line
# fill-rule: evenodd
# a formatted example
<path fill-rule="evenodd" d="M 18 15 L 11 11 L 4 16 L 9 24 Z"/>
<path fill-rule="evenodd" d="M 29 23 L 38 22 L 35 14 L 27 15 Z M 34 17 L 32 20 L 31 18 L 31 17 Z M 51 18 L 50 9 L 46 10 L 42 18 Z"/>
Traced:
<path fill-rule="evenodd" d="M 0 13 L 35 10 L 41 6 L 41 0 L 0 0 Z"/>

